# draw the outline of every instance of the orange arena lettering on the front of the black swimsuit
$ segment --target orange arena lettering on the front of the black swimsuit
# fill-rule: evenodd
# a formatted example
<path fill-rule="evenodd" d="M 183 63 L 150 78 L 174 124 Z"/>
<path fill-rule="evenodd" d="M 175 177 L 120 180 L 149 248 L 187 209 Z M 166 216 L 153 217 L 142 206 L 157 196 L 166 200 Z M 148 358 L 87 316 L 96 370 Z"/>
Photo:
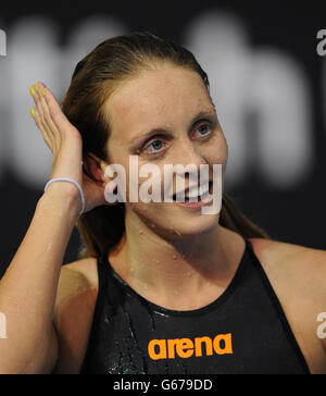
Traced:
<path fill-rule="evenodd" d="M 204 348 L 203 348 L 204 347 Z M 203 352 L 204 350 L 204 352 Z M 216 355 L 233 355 L 231 334 L 218 334 L 214 339 L 198 337 L 190 338 L 152 339 L 148 345 L 148 354 L 152 360 L 183 359 Z"/>

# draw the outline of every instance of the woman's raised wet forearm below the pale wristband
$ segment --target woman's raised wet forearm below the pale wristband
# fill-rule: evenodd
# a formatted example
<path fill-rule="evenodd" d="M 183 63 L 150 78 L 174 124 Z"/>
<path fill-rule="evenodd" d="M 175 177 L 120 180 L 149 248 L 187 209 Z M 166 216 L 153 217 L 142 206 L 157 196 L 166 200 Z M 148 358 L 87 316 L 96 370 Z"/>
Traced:
<path fill-rule="evenodd" d="M 75 187 L 63 184 L 51 185 L 38 201 L 0 282 L 0 312 L 7 319 L 0 369 L 24 372 L 46 359 L 62 261 L 80 210 L 79 196 L 71 189 Z"/>

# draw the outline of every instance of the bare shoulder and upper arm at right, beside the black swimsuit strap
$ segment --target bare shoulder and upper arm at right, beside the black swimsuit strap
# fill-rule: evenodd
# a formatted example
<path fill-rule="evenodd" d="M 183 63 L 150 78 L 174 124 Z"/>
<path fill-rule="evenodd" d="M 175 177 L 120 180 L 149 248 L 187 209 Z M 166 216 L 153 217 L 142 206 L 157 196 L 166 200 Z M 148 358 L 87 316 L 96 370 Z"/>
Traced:
<path fill-rule="evenodd" d="M 326 373 L 326 338 L 317 336 L 326 310 L 326 251 L 250 238 L 312 373 Z"/>

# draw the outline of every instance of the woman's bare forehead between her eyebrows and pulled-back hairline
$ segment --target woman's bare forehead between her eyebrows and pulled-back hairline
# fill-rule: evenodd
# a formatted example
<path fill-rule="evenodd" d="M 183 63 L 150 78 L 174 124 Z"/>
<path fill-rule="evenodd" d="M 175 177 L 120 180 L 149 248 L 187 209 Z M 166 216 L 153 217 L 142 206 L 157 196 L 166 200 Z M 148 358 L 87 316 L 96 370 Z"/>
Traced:
<path fill-rule="evenodd" d="M 172 65 L 143 71 L 122 84 L 104 104 L 111 137 L 130 140 L 137 133 L 189 122 L 212 109 L 208 89 L 193 71 Z"/>

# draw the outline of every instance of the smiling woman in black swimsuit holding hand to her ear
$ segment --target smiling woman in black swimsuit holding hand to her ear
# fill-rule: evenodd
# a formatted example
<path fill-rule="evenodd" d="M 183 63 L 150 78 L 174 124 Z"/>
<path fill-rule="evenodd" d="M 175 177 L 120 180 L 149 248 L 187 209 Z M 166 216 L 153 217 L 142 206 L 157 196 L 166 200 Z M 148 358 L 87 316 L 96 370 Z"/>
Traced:
<path fill-rule="evenodd" d="M 77 182 L 85 210 L 73 183 L 39 199 L 0 284 L 0 372 L 326 373 L 324 251 L 269 239 L 225 193 L 210 215 L 105 199 L 108 165 L 128 181 L 130 156 L 161 171 L 220 164 L 224 180 L 227 143 L 189 51 L 115 37 L 78 63 L 62 109 L 42 83 L 30 91 L 50 178 Z M 83 250 L 62 268 L 75 223 Z"/>

